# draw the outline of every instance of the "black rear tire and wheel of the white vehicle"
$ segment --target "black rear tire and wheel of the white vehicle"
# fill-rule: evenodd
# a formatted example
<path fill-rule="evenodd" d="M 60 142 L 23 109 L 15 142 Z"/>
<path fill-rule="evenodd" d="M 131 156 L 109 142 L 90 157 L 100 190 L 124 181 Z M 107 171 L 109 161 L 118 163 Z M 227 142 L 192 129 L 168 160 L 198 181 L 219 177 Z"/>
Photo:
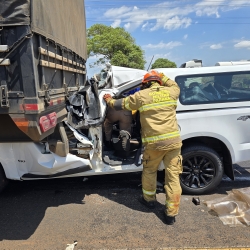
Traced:
<path fill-rule="evenodd" d="M 180 175 L 182 191 L 185 194 L 209 193 L 221 182 L 223 164 L 213 149 L 194 145 L 182 150 L 183 173 Z"/>

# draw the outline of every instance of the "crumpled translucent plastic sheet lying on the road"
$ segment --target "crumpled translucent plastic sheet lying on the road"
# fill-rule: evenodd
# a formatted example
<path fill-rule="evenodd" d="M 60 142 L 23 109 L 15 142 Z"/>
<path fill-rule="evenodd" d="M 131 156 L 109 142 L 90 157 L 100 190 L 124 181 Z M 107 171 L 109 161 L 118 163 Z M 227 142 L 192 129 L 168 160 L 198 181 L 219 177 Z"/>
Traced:
<path fill-rule="evenodd" d="M 224 225 L 250 226 L 250 187 L 232 189 L 226 197 L 204 202 Z"/>

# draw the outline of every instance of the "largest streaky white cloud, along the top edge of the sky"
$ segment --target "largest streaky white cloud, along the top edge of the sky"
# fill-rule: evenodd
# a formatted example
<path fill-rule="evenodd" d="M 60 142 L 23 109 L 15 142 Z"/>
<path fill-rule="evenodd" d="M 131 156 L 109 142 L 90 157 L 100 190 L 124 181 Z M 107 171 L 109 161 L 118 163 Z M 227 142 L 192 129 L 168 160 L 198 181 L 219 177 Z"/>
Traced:
<path fill-rule="evenodd" d="M 123 5 L 107 10 L 104 18 L 116 25 L 120 19 L 119 25 L 130 31 L 139 27 L 149 31 L 161 28 L 176 30 L 187 28 L 192 23 L 199 23 L 199 18 L 202 16 L 220 18 L 220 12 L 243 8 L 248 3 L 249 0 L 196 0 L 196 4 L 191 4 L 189 1 L 163 1 L 140 8 Z M 192 21 L 192 14 L 197 16 L 195 21 Z"/>

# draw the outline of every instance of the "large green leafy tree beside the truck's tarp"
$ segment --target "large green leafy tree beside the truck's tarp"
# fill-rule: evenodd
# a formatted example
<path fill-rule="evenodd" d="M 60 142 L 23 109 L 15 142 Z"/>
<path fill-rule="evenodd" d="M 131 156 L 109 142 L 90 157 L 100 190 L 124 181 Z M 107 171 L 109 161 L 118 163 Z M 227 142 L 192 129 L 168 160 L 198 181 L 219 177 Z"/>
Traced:
<path fill-rule="evenodd" d="M 112 65 L 144 69 L 144 51 L 123 28 L 95 24 L 87 30 L 88 56 L 99 59 L 90 66 L 110 62 Z"/>

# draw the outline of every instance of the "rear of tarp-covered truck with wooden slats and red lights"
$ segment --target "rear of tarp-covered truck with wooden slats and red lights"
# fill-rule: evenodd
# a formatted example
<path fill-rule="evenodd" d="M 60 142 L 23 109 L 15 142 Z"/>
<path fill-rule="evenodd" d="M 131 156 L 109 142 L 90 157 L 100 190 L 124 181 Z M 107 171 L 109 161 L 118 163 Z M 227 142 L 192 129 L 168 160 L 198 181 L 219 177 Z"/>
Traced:
<path fill-rule="evenodd" d="M 0 2 L 0 142 L 63 133 L 66 101 L 84 86 L 83 0 Z"/>

